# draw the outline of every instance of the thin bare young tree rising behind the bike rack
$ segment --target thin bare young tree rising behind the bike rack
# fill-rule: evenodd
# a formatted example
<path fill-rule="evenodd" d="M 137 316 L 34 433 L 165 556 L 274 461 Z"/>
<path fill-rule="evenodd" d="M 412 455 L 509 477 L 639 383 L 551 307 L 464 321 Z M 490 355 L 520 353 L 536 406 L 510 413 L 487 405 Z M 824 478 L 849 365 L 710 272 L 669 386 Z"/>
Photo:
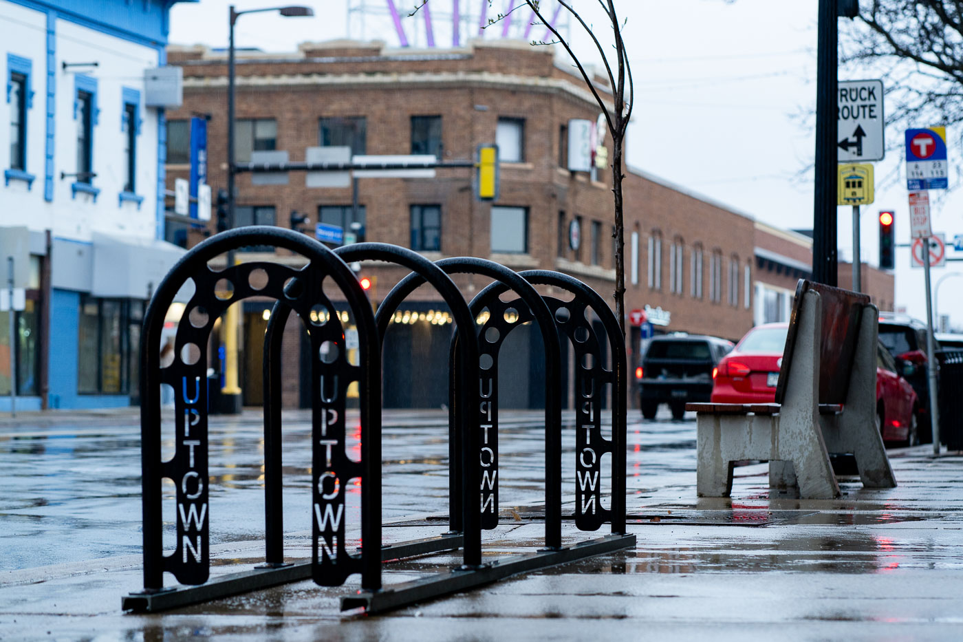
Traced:
<path fill-rule="evenodd" d="M 572 43 L 563 37 L 555 27 L 553 20 L 546 19 L 540 7 L 539 0 L 525 0 L 524 4 L 519 4 L 516 11 L 522 7 L 528 7 L 534 13 L 534 24 L 544 26 L 552 33 L 553 39 L 550 41 L 533 40 L 533 45 L 560 44 L 568 53 L 575 67 L 579 69 L 582 78 L 586 81 L 586 86 L 591 92 L 599 109 L 605 116 L 609 133 L 612 136 L 612 195 L 615 203 L 615 221 L 612 237 L 615 239 L 615 291 L 612 293 L 615 300 L 615 316 L 618 318 L 619 327 L 622 334 L 625 334 L 625 233 L 623 223 L 623 199 L 622 199 L 622 179 L 625 154 L 625 132 L 629 127 L 629 120 L 632 118 L 632 107 L 635 103 L 635 93 L 632 82 L 632 68 L 629 65 L 628 55 L 625 50 L 625 41 L 622 40 L 622 29 L 625 27 L 624 21 L 620 20 L 615 12 L 614 0 L 596 0 L 599 7 L 605 13 L 607 26 L 612 29 L 611 46 L 603 45 L 595 36 L 591 24 L 586 21 L 585 16 L 577 12 L 572 7 L 572 0 L 556 0 L 559 5 L 582 26 L 586 35 L 591 39 L 595 50 L 601 58 L 605 73 L 609 79 L 609 86 L 612 89 L 612 102 L 607 103 L 605 97 L 599 94 L 592 76 L 586 71 L 579 57 L 572 50 Z M 422 0 L 415 11 L 428 4 L 429 0 Z M 489 7 L 492 0 L 488 0 Z M 499 22 L 507 17 L 507 14 L 498 13 L 495 17 L 488 20 L 489 25 Z"/>

